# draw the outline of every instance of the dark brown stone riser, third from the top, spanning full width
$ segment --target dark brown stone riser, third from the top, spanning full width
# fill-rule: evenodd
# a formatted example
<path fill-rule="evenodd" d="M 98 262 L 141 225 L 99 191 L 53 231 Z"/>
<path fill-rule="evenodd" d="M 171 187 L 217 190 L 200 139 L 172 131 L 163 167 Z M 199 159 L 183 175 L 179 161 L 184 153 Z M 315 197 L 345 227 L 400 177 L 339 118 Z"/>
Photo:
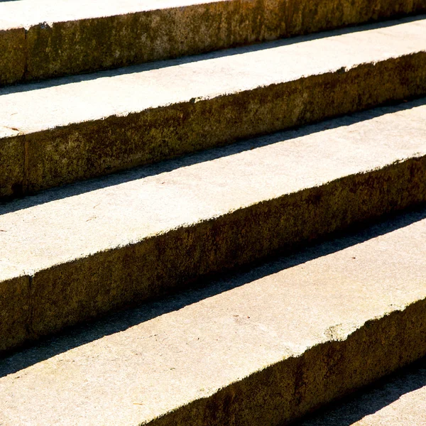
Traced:
<path fill-rule="evenodd" d="M 426 202 L 425 175 L 425 157 L 405 160 L 2 283 L 0 349 Z"/>

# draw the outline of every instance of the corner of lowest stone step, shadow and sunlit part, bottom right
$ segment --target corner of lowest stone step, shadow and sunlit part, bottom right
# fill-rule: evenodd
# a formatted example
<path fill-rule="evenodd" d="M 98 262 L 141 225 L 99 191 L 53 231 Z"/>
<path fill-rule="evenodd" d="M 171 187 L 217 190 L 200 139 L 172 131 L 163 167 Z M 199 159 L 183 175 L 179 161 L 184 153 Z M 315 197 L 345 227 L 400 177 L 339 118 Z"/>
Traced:
<path fill-rule="evenodd" d="M 295 426 L 424 426 L 426 358 Z"/>

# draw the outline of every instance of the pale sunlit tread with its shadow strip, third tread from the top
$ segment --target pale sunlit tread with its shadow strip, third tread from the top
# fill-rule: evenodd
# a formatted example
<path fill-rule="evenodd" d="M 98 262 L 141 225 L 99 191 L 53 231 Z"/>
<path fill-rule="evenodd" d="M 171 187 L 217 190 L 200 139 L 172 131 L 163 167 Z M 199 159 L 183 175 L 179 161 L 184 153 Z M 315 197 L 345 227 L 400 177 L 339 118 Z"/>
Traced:
<path fill-rule="evenodd" d="M 216 148 L 0 206 L 27 273 L 426 154 L 424 99 Z"/>

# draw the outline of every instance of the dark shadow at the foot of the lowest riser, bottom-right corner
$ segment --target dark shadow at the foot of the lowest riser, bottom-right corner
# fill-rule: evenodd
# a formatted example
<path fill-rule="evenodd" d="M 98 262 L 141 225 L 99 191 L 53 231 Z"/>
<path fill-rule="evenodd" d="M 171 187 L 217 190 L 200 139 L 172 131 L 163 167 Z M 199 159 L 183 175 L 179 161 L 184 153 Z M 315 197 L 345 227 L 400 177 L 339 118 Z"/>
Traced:
<path fill-rule="evenodd" d="M 328 405 L 315 415 L 293 423 L 293 426 L 351 426 L 367 415 L 391 405 L 401 396 L 425 386 L 426 358 L 423 358 L 338 403 Z M 383 418 L 381 420 L 383 421 Z M 398 425 L 403 425 L 403 419 L 400 418 L 399 421 Z M 373 423 L 368 422 L 368 425 Z"/>

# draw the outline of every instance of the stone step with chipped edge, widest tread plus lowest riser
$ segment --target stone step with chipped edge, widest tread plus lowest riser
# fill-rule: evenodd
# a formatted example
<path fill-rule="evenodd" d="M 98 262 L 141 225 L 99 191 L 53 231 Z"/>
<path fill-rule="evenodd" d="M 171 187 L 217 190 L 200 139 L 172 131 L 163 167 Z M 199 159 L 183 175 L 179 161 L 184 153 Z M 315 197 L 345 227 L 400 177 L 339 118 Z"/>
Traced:
<path fill-rule="evenodd" d="M 422 209 L 15 354 L 0 423 L 286 425 L 426 354 L 425 239 Z"/>

